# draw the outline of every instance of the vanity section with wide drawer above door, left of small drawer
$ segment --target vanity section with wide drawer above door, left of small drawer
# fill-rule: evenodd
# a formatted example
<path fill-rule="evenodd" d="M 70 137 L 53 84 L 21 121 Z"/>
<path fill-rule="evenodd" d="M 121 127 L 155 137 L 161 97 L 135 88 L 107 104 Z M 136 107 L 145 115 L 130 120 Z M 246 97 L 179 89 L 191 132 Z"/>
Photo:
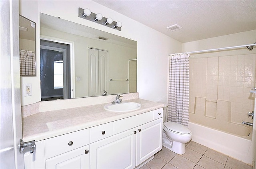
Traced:
<path fill-rule="evenodd" d="M 89 138 L 89 129 L 84 129 L 46 139 L 46 168 L 90 169 Z"/>

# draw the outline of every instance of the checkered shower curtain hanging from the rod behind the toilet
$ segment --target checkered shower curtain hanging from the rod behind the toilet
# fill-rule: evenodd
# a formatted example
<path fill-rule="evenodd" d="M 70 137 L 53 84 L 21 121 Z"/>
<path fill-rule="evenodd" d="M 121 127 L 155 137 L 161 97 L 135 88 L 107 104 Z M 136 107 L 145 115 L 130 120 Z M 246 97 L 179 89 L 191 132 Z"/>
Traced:
<path fill-rule="evenodd" d="M 170 57 L 168 121 L 188 127 L 189 54 Z"/>

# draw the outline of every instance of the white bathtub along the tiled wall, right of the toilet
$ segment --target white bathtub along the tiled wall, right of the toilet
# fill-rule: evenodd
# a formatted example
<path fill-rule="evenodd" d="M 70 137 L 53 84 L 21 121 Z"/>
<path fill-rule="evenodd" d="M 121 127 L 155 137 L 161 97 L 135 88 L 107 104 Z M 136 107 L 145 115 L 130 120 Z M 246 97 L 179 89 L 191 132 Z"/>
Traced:
<path fill-rule="evenodd" d="M 236 124 L 227 133 L 194 122 L 188 124 L 188 128 L 192 132 L 192 141 L 252 165 L 254 157 L 252 131 L 239 125 L 236 130 L 235 126 Z M 238 133 L 235 133 L 236 131 Z M 248 136 L 249 133 L 250 136 Z"/>

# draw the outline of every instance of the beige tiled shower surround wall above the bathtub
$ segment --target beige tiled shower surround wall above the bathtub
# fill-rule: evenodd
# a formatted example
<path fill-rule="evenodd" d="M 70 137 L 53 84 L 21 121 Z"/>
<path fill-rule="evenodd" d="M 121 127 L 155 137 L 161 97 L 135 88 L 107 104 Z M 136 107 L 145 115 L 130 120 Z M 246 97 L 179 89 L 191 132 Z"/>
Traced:
<path fill-rule="evenodd" d="M 254 104 L 250 89 L 255 86 L 255 57 L 256 54 L 248 54 L 190 59 L 189 111 L 199 113 L 194 112 L 196 106 L 200 113 L 205 111 L 204 116 L 217 120 L 238 124 L 252 121 L 247 112 L 253 110 Z M 195 105 L 196 97 L 205 98 L 210 104 L 197 100 Z"/>

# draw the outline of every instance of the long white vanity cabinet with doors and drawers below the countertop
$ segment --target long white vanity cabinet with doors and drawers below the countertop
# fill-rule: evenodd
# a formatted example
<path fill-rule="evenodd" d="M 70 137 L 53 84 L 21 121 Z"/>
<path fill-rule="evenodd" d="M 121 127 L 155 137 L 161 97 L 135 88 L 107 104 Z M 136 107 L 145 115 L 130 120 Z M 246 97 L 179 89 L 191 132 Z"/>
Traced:
<path fill-rule="evenodd" d="M 162 149 L 163 108 L 36 141 L 25 168 L 134 169 Z"/>

